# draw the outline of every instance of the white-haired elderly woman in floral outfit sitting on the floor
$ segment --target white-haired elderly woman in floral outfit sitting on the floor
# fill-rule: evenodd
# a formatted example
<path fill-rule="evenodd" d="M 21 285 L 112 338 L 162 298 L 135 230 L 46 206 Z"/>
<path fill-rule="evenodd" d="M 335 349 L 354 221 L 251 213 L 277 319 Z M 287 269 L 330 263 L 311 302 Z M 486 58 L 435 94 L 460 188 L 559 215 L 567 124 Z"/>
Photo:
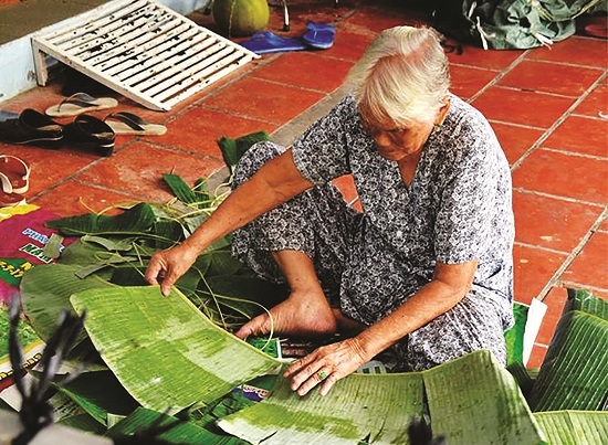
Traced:
<path fill-rule="evenodd" d="M 262 142 L 245 153 L 235 190 L 189 239 L 153 256 L 148 282 L 163 277 L 168 294 L 201 251 L 237 231 L 234 255 L 291 290 L 238 337 L 271 325 L 282 335 L 349 332 L 290 365 L 301 395 L 319 383 L 327 393 L 389 348 L 395 371 L 479 349 L 504 363 L 514 224 L 494 133 L 450 94 L 432 29 L 381 32 L 348 81 L 352 94 L 291 148 Z M 363 213 L 329 183 L 343 174 L 353 174 Z"/>

